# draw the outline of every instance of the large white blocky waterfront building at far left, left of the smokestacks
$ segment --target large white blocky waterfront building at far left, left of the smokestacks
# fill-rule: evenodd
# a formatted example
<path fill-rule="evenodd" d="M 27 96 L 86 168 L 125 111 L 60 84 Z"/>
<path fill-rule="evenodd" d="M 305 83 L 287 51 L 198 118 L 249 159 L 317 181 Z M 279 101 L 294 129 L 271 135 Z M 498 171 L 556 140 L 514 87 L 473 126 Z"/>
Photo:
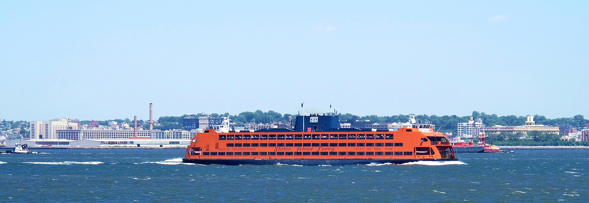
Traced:
<path fill-rule="evenodd" d="M 49 121 L 31 121 L 32 139 L 57 139 L 56 132 L 64 129 L 78 129 L 80 124 L 68 119 L 52 119 Z"/>

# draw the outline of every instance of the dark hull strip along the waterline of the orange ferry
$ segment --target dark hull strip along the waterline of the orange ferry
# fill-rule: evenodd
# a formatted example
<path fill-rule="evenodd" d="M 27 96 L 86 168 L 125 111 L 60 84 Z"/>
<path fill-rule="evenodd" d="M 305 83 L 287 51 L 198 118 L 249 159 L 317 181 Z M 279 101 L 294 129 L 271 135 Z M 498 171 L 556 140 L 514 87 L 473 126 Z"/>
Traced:
<path fill-rule="evenodd" d="M 458 158 L 441 159 L 182 159 L 184 163 L 220 165 L 358 165 L 358 164 L 405 164 L 415 161 L 458 161 Z"/>

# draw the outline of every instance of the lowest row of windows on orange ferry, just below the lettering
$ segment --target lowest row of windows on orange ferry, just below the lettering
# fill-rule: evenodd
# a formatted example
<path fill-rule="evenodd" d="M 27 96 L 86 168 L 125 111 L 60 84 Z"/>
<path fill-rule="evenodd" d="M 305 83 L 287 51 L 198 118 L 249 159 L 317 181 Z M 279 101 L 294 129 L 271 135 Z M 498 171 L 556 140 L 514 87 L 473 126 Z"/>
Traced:
<path fill-rule="evenodd" d="M 339 156 L 347 156 L 347 155 L 413 155 L 413 152 L 203 152 L 203 155 L 208 156 L 274 156 L 274 155 L 339 155 Z"/>

